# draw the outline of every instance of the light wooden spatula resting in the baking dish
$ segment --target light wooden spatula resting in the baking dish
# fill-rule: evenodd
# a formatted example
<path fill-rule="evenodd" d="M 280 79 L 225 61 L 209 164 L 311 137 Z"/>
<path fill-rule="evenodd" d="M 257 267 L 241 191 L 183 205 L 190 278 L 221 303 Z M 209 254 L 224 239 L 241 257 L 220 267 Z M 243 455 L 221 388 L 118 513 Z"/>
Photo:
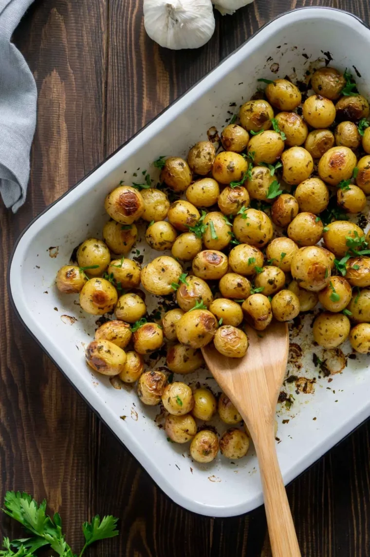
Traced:
<path fill-rule="evenodd" d="M 275 447 L 274 417 L 288 360 L 288 326 L 273 323 L 264 331 L 246 328 L 244 358 L 226 358 L 212 344 L 202 348 L 213 377 L 238 408 L 254 442 L 270 543 L 274 557 L 300 557 L 292 513 Z"/>

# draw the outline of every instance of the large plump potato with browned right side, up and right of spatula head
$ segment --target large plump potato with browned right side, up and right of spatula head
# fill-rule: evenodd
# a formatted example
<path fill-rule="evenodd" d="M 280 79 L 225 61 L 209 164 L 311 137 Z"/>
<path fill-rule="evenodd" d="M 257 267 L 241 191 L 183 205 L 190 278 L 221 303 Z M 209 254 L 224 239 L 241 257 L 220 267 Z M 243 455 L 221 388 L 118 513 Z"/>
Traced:
<path fill-rule="evenodd" d="M 294 253 L 290 272 L 300 288 L 318 292 L 329 284 L 332 271 L 324 251 L 318 246 L 308 246 Z"/>

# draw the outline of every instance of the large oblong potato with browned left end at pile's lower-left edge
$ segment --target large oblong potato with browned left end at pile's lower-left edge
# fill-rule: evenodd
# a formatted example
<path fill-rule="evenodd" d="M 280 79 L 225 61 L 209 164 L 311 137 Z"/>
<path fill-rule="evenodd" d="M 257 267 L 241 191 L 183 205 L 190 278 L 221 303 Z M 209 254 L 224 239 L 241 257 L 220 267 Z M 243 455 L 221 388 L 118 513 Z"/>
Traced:
<path fill-rule="evenodd" d="M 96 372 L 118 375 L 124 369 L 126 353 L 109 340 L 93 340 L 86 348 L 86 361 Z"/>

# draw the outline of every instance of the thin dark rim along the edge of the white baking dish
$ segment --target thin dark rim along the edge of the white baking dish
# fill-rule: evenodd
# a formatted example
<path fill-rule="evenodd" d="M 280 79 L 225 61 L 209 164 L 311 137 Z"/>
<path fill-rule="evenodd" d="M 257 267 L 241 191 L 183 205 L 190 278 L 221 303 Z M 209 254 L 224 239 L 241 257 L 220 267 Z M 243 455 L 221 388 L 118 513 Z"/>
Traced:
<path fill-rule="evenodd" d="M 134 139 L 137 135 L 141 134 L 142 131 L 144 131 L 150 124 L 152 124 L 157 118 L 159 118 L 162 114 L 164 114 L 166 112 L 166 110 L 168 110 L 172 105 L 174 105 L 177 101 L 179 101 L 184 95 L 186 95 L 189 91 L 191 91 L 191 89 L 193 89 L 196 85 L 199 85 L 199 83 L 201 81 L 203 81 L 209 74 L 211 74 L 211 72 L 213 72 L 216 67 L 220 66 L 222 63 L 225 62 L 225 60 L 227 60 L 228 58 L 230 58 L 230 56 L 233 56 L 235 52 L 238 52 L 238 50 L 240 50 L 240 48 L 243 48 L 244 45 L 246 45 L 247 42 L 249 42 L 251 40 L 251 38 L 255 37 L 256 35 L 258 35 L 258 33 L 260 31 L 262 31 L 265 27 L 268 27 L 269 25 L 271 25 L 272 23 L 274 23 L 275 21 L 277 21 L 278 19 L 280 19 L 283 16 L 286 16 L 288 13 L 293 13 L 293 12 L 298 12 L 298 11 L 302 11 L 302 10 L 310 10 L 310 9 L 330 9 L 333 12 L 342 12 L 347 14 L 347 16 L 351 16 L 354 19 L 357 19 L 357 21 L 359 21 L 364 27 L 366 27 L 368 30 L 370 30 L 370 27 L 367 25 L 367 23 L 365 23 L 364 21 L 362 21 L 362 19 L 358 16 L 356 16 L 353 13 L 347 12 L 346 10 L 343 9 L 337 9 L 337 8 L 330 8 L 330 7 L 325 7 L 325 6 L 305 6 L 302 8 L 297 8 L 297 9 L 290 9 L 287 12 L 284 13 L 280 13 L 279 16 L 274 17 L 273 19 L 271 19 L 270 21 L 268 21 L 267 23 L 265 23 L 262 27 L 259 28 L 258 31 L 256 31 L 255 33 L 253 33 L 253 35 L 251 35 L 246 41 L 244 41 L 238 48 L 235 48 L 235 50 L 233 52 L 231 52 L 228 56 L 226 56 L 225 58 L 223 58 L 223 60 L 221 60 L 215 67 L 213 67 L 213 69 L 211 69 L 207 74 L 205 74 L 203 77 L 201 77 L 200 80 L 198 80 L 194 85 L 191 85 L 191 87 L 189 87 L 189 89 L 187 89 L 184 93 L 182 93 L 179 97 L 177 97 L 177 99 L 175 99 L 174 101 L 172 101 L 168 106 L 166 106 L 166 108 L 164 108 L 159 114 L 157 114 L 152 120 L 150 120 L 150 122 L 148 122 L 147 124 L 145 124 L 145 126 L 143 128 L 141 128 L 139 131 L 137 131 L 134 135 L 131 136 L 130 139 L 127 139 L 127 141 L 125 141 L 125 143 L 122 143 L 122 145 L 120 145 L 113 153 L 111 153 L 110 155 L 108 155 L 108 157 L 106 159 L 104 159 L 100 164 L 98 164 L 95 168 L 93 168 L 92 170 L 90 170 L 90 172 L 88 172 L 83 178 L 81 178 L 81 180 L 78 180 L 78 182 L 73 185 L 70 189 L 67 190 L 66 193 L 63 193 L 63 195 L 61 197 L 58 197 L 58 199 L 56 199 L 56 201 L 53 201 L 53 203 L 51 203 L 50 205 L 48 205 L 41 213 L 39 213 L 36 217 L 34 217 L 32 219 L 31 222 L 29 222 L 26 226 L 26 228 L 24 228 L 21 232 L 21 234 L 19 234 L 16 243 L 13 246 L 12 249 L 12 253 L 11 256 L 9 257 L 9 262 L 8 262 L 8 268 L 7 268 L 7 289 L 8 289 L 8 295 L 9 295 L 9 299 L 11 301 L 11 305 L 13 308 L 14 313 L 16 314 L 16 316 L 18 317 L 19 321 L 21 321 L 24 329 L 27 330 L 28 334 L 32 336 L 33 340 L 36 341 L 36 343 L 42 348 L 42 350 L 45 352 L 45 354 L 51 359 L 51 361 L 53 362 L 53 364 L 58 368 L 58 370 L 60 370 L 60 372 L 63 374 L 63 376 L 68 380 L 68 383 L 70 383 L 73 387 L 73 389 L 75 389 L 75 391 L 80 395 L 80 397 L 85 401 L 85 403 L 88 405 L 88 407 L 91 408 L 91 410 L 93 411 L 93 413 L 96 414 L 96 416 L 100 419 L 100 421 L 106 426 L 106 428 L 114 435 L 114 437 L 125 447 L 126 451 L 130 453 L 130 455 L 132 457 L 135 458 L 135 460 L 139 463 L 139 466 L 142 468 L 142 470 L 144 470 L 149 476 L 149 472 L 147 472 L 144 468 L 144 466 L 141 464 L 141 462 L 139 462 L 137 460 L 137 458 L 132 455 L 131 451 L 129 451 L 129 449 L 127 449 L 127 447 L 125 446 L 125 443 L 119 438 L 119 436 L 117 436 L 117 434 L 111 429 L 110 426 L 108 426 L 108 424 L 106 423 L 106 421 L 100 416 L 100 414 L 98 413 L 98 411 L 96 410 L 96 408 L 94 408 L 92 406 L 92 404 L 90 404 L 90 402 L 88 402 L 88 400 L 86 400 L 86 398 L 83 396 L 83 394 L 81 393 L 81 391 L 76 387 L 76 385 L 74 383 L 72 383 L 72 380 L 65 374 L 65 372 L 63 372 L 62 368 L 56 363 L 56 361 L 52 358 L 52 356 L 48 353 L 48 351 L 46 350 L 45 346 L 43 346 L 43 344 L 40 342 L 40 340 L 37 339 L 37 337 L 32 333 L 31 330 L 29 330 L 29 328 L 27 327 L 27 325 L 24 323 L 22 317 L 19 315 L 19 312 L 17 310 L 16 304 L 13 300 L 13 295 L 12 295 L 12 291 L 11 291 L 11 285 L 10 285 L 10 270 L 11 270 L 11 266 L 12 266 L 12 261 L 13 261 L 13 257 L 14 257 L 14 253 L 16 252 L 17 246 L 19 241 L 21 240 L 21 238 L 23 237 L 23 234 L 25 234 L 28 230 L 29 227 L 32 226 L 32 224 L 34 222 L 37 221 L 38 218 L 40 218 L 44 213 L 46 213 L 53 205 L 55 205 L 56 203 L 58 203 L 58 201 L 60 201 L 60 199 L 62 199 L 63 197 L 67 196 L 68 193 L 70 193 L 72 191 L 72 189 L 77 188 L 78 185 L 81 184 L 81 182 L 83 182 L 83 180 L 85 180 L 85 178 L 87 178 L 88 176 L 90 176 L 93 172 L 95 172 L 95 170 L 97 170 L 98 168 L 100 168 L 103 164 L 106 163 L 106 161 L 108 159 L 110 159 L 111 157 L 113 157 L 116 153 L 118 153 L 121 149 L 123 149 L 127 144 L 130 143 L 130 141 L 132 141 L 132 139 Z M 328 449 L 328 451 L 324 452 L 322 456 L 320 456 L 319 458 L 317 458 L 311 465 L 309 465 L 307 468 L 305 468 L 302 472 L 300 472 L 300 474 L 298 474 L 298 476 L 295 476 L 295 478 L 290 481 L 287 486 L 289 486 L 291 483 L 293 483 L 295 480 L 297 480 L 300 476 L 302 476 L 305 472 L 307 472 L 311 467 L 313 467 L 321 458 L 323 458 L 329 451 L 331 451 L 334 447 L 338 446 L 340 443 L 342 443 L 344 441 L 344 439 L 347 439 L 347 437 L 349 437 L 350 435 L 352 435 L 353 432 L 355 432 L 358 428 L 360 428 L 364 423 L 366 423 L 368 421 L 369 418 L 364 419 L 361 423 L 358 424 L 358 426 L 354 427 L 352 429 L 351 432 L 347 433 L 346 436 L 344 436 L 341 441 L 338 441 L 338 443 L 336 443 L 335 445 L 333 445 L 333 447 L 331 447 L 330 449 Z M 150 476 L 151 477 L 151 476 Z M 155 480 L 151 477 L 152 481 L 155 482 Z M 171 500 L 171 497 L 169 495 L 167 495 L 165 493 L 164 490 L 162 490 L 162 488 L 156 483 L 157 488 L 159 488 L 162 493 L 168 497 Z M 172 501 L 172 500 L 171 500 Z M 181 505 L 180 505 L 181 506 Z M 262 506 L 262 505 L 260 505 Z M 183 507 L 185 508 L 185 507 Z M 259 507 L 255 507 L 255 509 L 258 509 Z M 240 513 L 239 515 L 233 515 L 233 516 L 241 516 L 243 514 L 249 514 L 249 512 L 253 512 L 255 509 L 253 509 L 252 511 L 248 511 L 248 513 Z M 188 512 L 192 512 L 193 514 L 199 514 L 195 511 L 190 511 L 189 509 L 186 509 L 186 511 Z M 204 516 L 204 515 L 202 515 Z"/>

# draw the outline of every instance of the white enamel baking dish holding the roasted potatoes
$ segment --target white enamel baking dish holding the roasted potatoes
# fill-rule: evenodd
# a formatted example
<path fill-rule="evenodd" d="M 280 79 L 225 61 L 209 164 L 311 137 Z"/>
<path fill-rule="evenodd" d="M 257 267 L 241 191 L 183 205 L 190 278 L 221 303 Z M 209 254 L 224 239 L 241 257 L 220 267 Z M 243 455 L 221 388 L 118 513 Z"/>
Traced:
<path fill-rule="evenodd" d="M 158 408 L 142 407 L 135 389 L 114 388 L 108 378 L 98 377 L 87 368 L 83 347 L 93 338 L 96 318 L 82 315 L 74 304 L 77 297 L 58 294 L 56 272 L 70 260 L 78 243 L 87 237 L 101 237 L 107 219 L 103 201 L 120 180 L 127 184 L 139 181 L 134 177 L 138 168 L 138 176 L 141 169 L 147 169 L 156 179 L 158 170 L 152 161 L 160 155 L 186 156 L 191 145 L 206 139 L 211 126 L 221 130 L 230 118 L 228 111 L 238 110 L 230 108 L 230 103 L 238 107 L 248 100 L 260 85 L 256 81 L 259 77 L 289 75 L 302 79 L 313 61 L 320 59 L 316 66 L 324 65 L 332 56 L 331 63 L 338 69 L 348 67 L 354 73 L 356 66 L 361 73 L 357 77 L 359 89 L 369 96 L 370 66 L 365 58 L 369 49 L 368 28 L 342 11 L 303 8 L 274 19 L 40 214 L 14 248 L 9 294 L 24 326 L 162 490 L 191 511 L 233 516 L 262 504 L 253 447 L 240 462 L 219 456 L 209 465 L 197 465 L 189 457 L 188 445 L 167 442 L 154 419 Z M 144 244 L 136 247 L 144 250 Z M 146 248 L 144 264 L 158 255 Z M 300 379 L 284 387 L 288 395 L 294 396 L 292 407 L 279 404 L 277 409 L 277 450 L 285 483 L 370 415 L 369 359 L 359 355 L 346 361 L 346 354 L 351 353 L 348 344 L 341 347 L 343 353 L 323 354 L 322 349 L 314 349 L 311 322 L 312 315 L 291 333 L 294 344 L 289 371 Z M 330 383 L 328 378 L 319 377 L 313 351 L 320 359 L 327 358 L 334 370 L 342 370 L 330 377 Z M 193 375 L 194 382 L 215 387 L 204 381 L 209 372 Z M 191 381 L 189 376 L 186 379 Z M 219 424 L 216 427 L 222 431 Z"/>

